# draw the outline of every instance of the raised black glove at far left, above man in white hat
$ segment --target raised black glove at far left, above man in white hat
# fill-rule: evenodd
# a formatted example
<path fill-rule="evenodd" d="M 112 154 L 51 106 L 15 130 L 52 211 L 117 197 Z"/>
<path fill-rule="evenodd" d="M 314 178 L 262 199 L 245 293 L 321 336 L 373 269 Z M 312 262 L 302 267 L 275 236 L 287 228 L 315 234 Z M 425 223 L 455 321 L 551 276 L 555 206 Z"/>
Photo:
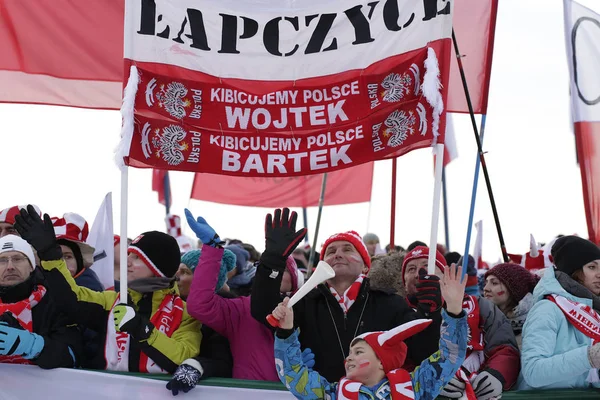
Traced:
<path fill-rule="evenodd" d="M 54 261 L 62 258 L 62 250 L 56 241 L 54 226 L 48 214 L 44 214 L 42 221 L 30 204 L 27 210 L 22 208 L 21 213 L 15 216 L 15 229 L 37 251 L 40 260 Z"/>

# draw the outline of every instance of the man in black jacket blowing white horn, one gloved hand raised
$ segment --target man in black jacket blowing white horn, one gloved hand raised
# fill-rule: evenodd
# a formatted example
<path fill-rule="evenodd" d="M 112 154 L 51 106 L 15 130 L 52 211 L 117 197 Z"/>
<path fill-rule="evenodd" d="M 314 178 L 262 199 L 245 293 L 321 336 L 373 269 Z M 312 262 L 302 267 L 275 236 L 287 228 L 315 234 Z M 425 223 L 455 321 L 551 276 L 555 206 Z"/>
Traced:
<path fill-rule="evenodd" d="M 296 213 L 290 214 L 287 208 L 277 209 L 274 216 L 266 217 L 266 248 L 257 267 L 251 303 L 252 316 L 262 323 L 266 323 L 267 315 L 281 301 L 279 286 L 285 260 L 306 233 L 306 229 L 296 232 L 296 220 Z M 415 312 L 404 298 L 371 289 L 366 276 L 371 258 L 357 232 L 328 238 L 321 250 L 321 260 L 331 265 L 335 277 L 296 303 L 294 313 L 302 347 L 312 349 L 315 370 L 328 381 L 336 382 L 344 376 L 350 342 L 363 332 L 384 331 L 429 317 L 434 321 L 432 325 L 407 339 L 408 358 L 418 364 L 437 350 L 441 304 L 432 307 L 423 303 Z M 439 280 L 431 282 L 432 290 L 439 291 Z M 429 313 L 431 308 L 434 310 Z"/>

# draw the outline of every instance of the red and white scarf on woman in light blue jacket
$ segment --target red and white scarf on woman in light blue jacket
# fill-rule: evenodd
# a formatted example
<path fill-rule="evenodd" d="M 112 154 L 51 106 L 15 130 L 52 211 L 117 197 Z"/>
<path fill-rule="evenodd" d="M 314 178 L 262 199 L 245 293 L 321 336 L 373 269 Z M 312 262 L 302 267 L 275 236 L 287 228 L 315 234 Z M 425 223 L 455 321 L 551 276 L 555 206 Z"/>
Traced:
<path fill-rule="evenodd" d="M 592 345 L 600 343 L 600 314 L 596 310 L 557 294 L 547 295 L 546 299 L 556 304 L 565 314 L 567 321 L 591 339 Z M 587 380 L 588 382 L 598 382 L 598 369 L 590 369 Z"/>

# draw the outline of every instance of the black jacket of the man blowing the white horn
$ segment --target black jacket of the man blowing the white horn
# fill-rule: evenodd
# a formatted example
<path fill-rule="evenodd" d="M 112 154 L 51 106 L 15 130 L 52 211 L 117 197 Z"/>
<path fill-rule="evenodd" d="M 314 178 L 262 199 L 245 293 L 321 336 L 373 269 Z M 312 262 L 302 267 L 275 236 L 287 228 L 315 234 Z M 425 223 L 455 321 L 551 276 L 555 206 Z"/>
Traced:
<path fill-rule="evenodd" d="M 278 265 L 259 264 L 252 287 L 252 316 L 266 324 L 266 317 L 281 301 L 279 288 L 285 259 Z M 363 280 L 358 297 L 344 314 L 331 291 L 324 284 L 309 292 L 294 305 L 294 326 L 300 328 L 302 348 L 315 354 L 315 371 L 329 382 L 337 382 L 345 374 L 350 342 L 365 332 L 385 331 L 418 318 L 431 318 L 433 323 L 423 332 L 409 338 L 408 358 L 418 365 L 437 351 L 440 339 L 440 312 L 425 316 L 413 311 L 404 298 L 371 290 L 369 278 Z"/>

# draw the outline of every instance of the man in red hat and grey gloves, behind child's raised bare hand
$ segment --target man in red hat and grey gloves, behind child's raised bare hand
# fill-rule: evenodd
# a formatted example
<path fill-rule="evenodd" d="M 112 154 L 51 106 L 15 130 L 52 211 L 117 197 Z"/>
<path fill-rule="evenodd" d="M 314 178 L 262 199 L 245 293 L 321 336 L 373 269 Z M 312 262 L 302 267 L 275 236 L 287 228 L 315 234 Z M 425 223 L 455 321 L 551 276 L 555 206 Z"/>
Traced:
<path fill-rule="evenodd" d="M 413 307 L 417 306 L 419 296 L 436 296 L 421 284 L 427 280 L 428 257 L 429 248 L 418 246 L 406 254 L 402 263 L 406 298 Z M 443 277 L 446 259 L 439 251 L 435 266 L 438 276 Z M 441 394 L 455 399 L 469 392 L 479 400 L 499 397 L 515 384 L 520 370 L 519 350 L 510 321 L 492 302 L 479 296 L 465 295 L 462 308 L 468 315 L 467 358 Z"/>

